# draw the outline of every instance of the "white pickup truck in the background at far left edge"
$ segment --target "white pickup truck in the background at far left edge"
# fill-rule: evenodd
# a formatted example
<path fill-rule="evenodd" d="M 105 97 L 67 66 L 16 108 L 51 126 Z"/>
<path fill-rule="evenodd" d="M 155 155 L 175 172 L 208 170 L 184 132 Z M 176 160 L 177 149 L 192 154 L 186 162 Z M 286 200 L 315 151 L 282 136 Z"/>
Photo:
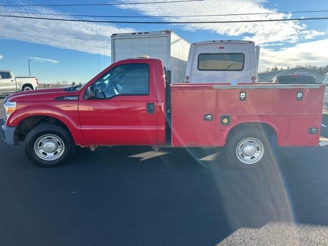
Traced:
<path fill-rule="evenodd" d="M 15 77 L 12 71 L 0 70 L 0 96 L 37 89 L 36 77 Z"/>

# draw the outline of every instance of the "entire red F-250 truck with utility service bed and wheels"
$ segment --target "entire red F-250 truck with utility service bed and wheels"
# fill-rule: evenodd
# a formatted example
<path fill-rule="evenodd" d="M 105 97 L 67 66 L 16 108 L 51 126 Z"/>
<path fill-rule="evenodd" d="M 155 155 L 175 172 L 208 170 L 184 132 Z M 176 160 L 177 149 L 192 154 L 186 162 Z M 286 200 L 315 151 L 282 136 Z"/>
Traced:
<path fill-rule="evenodd" d="M 82 86 L 19 92 L 5 99 L 3 137 L 51 167 L 75 146 L 222 147 L 238 168 L 271 160 L 279 146 L 318 146 L 323 85 L 174 84 L 162 61 L 117 61 Z M 327 140 L 327 139 L 325 139 Z M 321 145 L 328 142 L 321 142 Z"/>

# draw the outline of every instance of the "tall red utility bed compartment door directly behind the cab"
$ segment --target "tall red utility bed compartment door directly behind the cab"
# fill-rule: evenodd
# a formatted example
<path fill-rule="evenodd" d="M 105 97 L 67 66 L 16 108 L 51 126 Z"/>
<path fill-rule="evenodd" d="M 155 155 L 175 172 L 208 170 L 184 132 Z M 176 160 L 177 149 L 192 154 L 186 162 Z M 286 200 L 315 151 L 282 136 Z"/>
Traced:
<path fill-rule="evenodd" d="M 172 146 L 214 146 L 216 92 L 172 90 Z M 204 119 L 206 115 L 212 115 L 212 120 Z"/>

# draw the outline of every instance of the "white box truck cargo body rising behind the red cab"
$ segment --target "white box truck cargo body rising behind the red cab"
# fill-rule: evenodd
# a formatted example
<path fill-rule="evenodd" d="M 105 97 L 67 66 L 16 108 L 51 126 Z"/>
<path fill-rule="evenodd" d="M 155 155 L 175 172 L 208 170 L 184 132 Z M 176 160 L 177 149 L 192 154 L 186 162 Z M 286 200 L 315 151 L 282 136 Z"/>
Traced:
<path fill-rule="evenodd" d="M 148 55 L 163 61 L 169 83 L 185 83 L 190 43 L 171 30 L 117 33 L 111 36 L 112 63 Z"/>

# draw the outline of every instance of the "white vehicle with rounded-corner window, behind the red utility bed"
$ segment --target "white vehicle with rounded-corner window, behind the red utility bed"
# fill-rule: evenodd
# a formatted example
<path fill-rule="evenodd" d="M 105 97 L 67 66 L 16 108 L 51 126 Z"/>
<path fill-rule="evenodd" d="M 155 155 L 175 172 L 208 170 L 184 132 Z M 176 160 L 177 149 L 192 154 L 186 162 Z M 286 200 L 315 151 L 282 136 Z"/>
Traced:
<path fill-rule="evenodd" d="M 244 40 L 211 40 L 190 47 L 185 83 L 257 81 L 259 46 Z"/>

